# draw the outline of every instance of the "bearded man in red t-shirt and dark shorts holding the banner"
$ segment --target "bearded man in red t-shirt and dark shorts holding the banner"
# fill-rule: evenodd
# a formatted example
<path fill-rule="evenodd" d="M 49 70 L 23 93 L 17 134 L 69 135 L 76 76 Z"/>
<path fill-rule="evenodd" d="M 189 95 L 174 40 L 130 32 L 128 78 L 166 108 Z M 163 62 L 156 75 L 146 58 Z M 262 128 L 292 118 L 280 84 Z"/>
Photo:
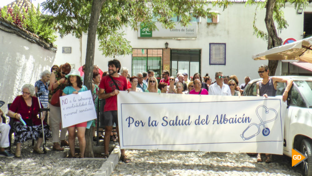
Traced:
<path fill-rule="evenodd" d="M 110 144 L 110 133 L 113 130 L 113 125 L 116 123 L 116 131 L 119 141 L 119 128 L 118 128 L 118 116 L 117 116 L 117 95 L 119 91 L 125 91 L 127 89 L 127 80 L 124 76 L 119 75 L 120 70 L 119 60 L 110 60 L 108 62 L 108 74 L 102 77 L 100 82 L 99 98 L 105 99 L 104 106 L 104 158 L 108 158 L 108 147 Z M 114 80 L 114 81 L 113 81 Z M 117 85 L 117 87 L 116 87 Z M 125 163 L 129 163 L 130 159 L 124 155 L 124 149 L 121 149 L 121 160 Z"/>

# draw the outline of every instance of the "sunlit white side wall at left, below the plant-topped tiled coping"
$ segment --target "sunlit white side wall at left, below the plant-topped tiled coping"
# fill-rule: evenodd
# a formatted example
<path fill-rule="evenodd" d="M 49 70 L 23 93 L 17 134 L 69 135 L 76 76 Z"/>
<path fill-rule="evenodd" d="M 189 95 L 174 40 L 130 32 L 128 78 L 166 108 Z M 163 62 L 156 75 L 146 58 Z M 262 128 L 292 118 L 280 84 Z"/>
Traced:
<path fill-rule="evenodd" d="M 6 112 L 24 84 L 35 85 L 40 73 L 51 69 L 56 53 L 2 30 L 0 36 L 0 100 Z"/>

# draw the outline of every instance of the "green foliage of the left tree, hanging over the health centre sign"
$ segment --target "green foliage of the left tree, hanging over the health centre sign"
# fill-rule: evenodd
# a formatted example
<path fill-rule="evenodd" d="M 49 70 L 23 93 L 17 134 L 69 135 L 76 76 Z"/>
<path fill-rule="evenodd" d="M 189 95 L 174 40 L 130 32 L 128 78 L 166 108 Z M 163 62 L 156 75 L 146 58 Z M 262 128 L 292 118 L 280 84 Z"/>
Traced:
<path fill-rule="evenodd" d="M 205 8 L 204 0 L 106 0 L 101 8 L 97 25 L 100 50 L 105 56 L 131 53 L 130 42 L 124 39 L 124 28 L 138 30 L 144 23 L 151 30 L 158 30 L 157 19 L 164 28 L 174 28 L 173 17 L 180 17 L 178 23 L 187 26 L 193 17 L 211 18 L 217 13 Z M 227 3 L 224 3 L 226 5 Z M 89 26 L 92 1 L 90 0 L 47 0 L 42 3 L 44 11 L 51 15 L 46 23 L 55 23 L 61 35 L 72 34 L 79 38 Z M 153 20 L 154 19 L 154 20 Z"/>

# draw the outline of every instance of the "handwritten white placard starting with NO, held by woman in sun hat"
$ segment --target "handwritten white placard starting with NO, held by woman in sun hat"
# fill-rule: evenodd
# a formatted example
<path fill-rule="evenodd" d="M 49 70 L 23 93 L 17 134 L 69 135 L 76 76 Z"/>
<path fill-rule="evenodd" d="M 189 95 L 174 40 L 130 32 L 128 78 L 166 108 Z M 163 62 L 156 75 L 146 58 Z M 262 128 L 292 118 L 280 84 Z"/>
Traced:
<path fill-rule="evenodd" d="M 96 119 L 91 91 L 60 97 L 62 128 Z"/>

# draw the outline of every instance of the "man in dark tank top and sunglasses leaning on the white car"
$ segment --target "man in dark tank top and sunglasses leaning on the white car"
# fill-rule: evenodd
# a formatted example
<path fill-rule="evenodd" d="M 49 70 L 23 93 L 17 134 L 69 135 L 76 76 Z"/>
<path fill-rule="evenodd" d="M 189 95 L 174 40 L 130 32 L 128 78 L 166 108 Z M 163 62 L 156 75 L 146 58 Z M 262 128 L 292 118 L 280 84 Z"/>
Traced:
<path fill-rule="evenodd" d="M 267 65 L 261 65 L 258 70 L 260 78 L 263 78 L 261 81 L 258 81 L 256 83 L 257 88 L 257 96 L 275 96 L 276 94 L 276 86 L 277 82 L 284 82 L 287 83 L 287 86 L 285 88 L 285 91 L 283 93 L 283 101 L 286 101 L 288 96 L 288 91 L 291 88 L 291 85 L 293 83 L 290 79 L 282 79 L 277 78 L 275 76 L 269 77 L 269 68 Z M 272 154 L 266 153 L 266 163 L 271 163 L 272 161 Z M 257 156 L 257 162 L 262 162 L 261 153 L 258 153 Z"/>

